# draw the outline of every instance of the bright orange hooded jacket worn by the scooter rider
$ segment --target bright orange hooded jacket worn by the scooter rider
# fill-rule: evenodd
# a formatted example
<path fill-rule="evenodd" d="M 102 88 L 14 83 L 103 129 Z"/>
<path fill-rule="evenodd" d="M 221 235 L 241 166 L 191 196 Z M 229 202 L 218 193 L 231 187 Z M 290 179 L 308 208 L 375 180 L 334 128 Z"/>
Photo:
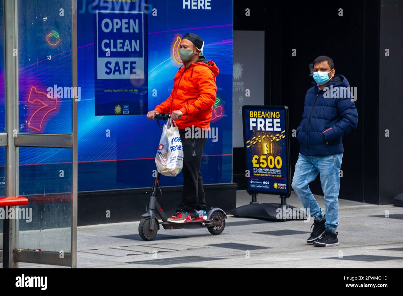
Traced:
<path fill-rule="evenodd" d="M 217 75 L 216 64 L 204 58 L 187 68 L 179 68 L 171 95 L 154 110 L 159 113 L 181 110 L 183 116 L 175 121 L 179 129 L 192 125 L 210 129 L 211 113 L 217 97 Z"/>

